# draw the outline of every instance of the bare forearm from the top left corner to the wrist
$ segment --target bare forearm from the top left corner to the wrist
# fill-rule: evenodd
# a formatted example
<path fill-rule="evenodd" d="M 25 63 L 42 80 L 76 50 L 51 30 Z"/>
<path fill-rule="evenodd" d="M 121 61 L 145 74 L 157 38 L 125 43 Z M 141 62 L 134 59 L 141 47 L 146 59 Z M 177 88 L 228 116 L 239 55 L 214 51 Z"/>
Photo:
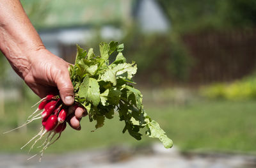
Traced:
<path fill-rule="evenodd" d="M 29 55 L 45 49 L 19 0 L 0 1 L 0 50 L 22 78 L 31 68 Z"/>

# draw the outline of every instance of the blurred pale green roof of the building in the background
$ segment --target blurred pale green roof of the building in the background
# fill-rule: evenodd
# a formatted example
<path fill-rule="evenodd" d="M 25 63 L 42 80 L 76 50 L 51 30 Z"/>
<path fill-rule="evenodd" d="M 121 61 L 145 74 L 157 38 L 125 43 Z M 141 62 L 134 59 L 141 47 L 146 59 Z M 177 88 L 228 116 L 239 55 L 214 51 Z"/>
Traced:
<path fill-rule="evenodd" d="M 23 0 L 37 28 L 122 24 L 131 17 L 132 0 Z"/>

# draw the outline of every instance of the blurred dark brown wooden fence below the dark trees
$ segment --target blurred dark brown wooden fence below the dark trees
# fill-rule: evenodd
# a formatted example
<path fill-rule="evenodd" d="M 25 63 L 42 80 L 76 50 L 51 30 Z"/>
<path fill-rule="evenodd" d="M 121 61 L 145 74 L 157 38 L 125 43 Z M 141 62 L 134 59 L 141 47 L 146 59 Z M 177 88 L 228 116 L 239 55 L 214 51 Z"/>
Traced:
<path fill-rule="evenodd" d="M 183 40 L 195 60 L 190 82 L 229 81 L 255 70 L 256 29 L 187 34 Z"/>

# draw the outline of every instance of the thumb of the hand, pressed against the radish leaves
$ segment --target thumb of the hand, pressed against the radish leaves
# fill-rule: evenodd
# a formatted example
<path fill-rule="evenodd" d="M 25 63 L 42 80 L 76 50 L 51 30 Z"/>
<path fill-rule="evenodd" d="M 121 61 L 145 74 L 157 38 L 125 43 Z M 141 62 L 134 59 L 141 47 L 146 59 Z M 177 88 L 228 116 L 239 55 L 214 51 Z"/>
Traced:
<path fill-rule="evenodd" d="M 65 105 L 72 105 L 74 103 L 74 88 L 68 72 L 58 77 L 56 86 L 59 89 L 62 102 Z"/>

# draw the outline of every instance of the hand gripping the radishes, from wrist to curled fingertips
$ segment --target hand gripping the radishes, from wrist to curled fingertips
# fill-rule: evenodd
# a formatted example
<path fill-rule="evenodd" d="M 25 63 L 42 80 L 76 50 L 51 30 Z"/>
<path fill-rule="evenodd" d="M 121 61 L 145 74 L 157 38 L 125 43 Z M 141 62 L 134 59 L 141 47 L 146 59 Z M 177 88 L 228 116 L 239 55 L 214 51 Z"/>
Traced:
<path fill-rule="evenodd" d="M 70 80 L 69 63 L 55 56 L 47 49 L 39 49 L 27 53 L 29 56 L 28 71 L 24 74 L 24 81 L 36 95 L 44 98 L 49 93 L 58 95 L 65 105 L 74 103 L 74 89 Z M 68 118 L 70 126 L 81 130 L 80 121 L 87 112 L 82 107 L 70 107 L 73 113 Z"/>

